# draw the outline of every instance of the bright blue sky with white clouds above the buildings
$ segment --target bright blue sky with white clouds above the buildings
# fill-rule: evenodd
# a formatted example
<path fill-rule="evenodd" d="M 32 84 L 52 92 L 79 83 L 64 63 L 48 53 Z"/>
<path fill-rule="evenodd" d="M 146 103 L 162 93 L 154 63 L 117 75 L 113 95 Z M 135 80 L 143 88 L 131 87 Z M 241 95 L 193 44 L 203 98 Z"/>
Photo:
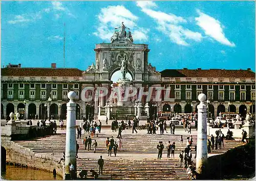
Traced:
<path fill-rule="evenodd" d="M 110 42 L 124 22 L 134 43 L 151 49 L 148 61 L 164 69 L 255 71 L 254 2 L 2 2 L 2 67 L 86 70 L 95 44 Z"/>

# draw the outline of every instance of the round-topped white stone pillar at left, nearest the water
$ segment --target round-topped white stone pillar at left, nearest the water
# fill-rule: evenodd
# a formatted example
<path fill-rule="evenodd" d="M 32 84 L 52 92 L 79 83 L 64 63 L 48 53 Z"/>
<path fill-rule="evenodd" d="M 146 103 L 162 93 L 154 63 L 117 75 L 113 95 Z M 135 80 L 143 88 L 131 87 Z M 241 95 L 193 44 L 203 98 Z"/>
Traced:
<path fill-rule="evenodd" d="M 70 101 L 67 103 L 67 130 L 66 130 L 66 154 L 65 154 L 65 179 L 68 178 L 69 164 L 73 164 L 76 172 L 76 98 L 75 92 L 68 93 Z"/>

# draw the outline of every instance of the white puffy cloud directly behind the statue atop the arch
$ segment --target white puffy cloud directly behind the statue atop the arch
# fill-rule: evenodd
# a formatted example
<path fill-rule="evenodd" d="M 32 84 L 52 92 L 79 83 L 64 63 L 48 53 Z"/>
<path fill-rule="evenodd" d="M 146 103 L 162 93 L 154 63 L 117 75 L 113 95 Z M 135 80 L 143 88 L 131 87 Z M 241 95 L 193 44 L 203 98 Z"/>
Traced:
<path fill-rule="evenodd" d="M 148 40 L 148 30 L 139 28 L 136 24 L 138 17 L 124 6 L 108 6 L 102 8 L 97 17 L 99 25 L 97 31 L 93 34 L 103 40 L 109 40 L 113 35 L 114 29 L 119 27 L 121 22 L 123 22 L 125 27 L 131 29 L 130 31 L 135 41 Z"/>

